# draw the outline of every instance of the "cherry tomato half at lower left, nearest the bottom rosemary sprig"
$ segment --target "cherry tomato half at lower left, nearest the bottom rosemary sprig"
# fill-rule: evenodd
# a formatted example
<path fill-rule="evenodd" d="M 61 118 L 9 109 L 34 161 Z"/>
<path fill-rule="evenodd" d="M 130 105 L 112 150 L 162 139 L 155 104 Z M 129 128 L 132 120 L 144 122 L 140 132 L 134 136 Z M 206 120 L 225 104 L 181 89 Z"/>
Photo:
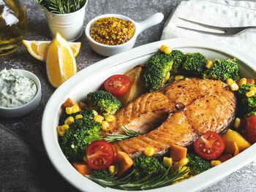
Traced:
<path fill-rule="evenodd" d="M 100 140 L 88 145 L 86 155 L 92 169 L 106 169 L 113 163 L 115 151 L 110 143 Z"/>

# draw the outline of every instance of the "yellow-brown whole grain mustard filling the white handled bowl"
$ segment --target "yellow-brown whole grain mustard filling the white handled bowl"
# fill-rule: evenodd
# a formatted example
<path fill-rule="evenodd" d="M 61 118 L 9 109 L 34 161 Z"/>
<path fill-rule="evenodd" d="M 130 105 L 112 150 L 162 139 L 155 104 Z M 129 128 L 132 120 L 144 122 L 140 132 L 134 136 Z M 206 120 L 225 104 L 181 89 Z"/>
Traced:
<path fill-rule="evenodd" d="M 91 24 L 90 35 L 104 45 L 121 45 L 135 34 L 135 26 L 129 20 L 115 17 L 100 18 Z"/>

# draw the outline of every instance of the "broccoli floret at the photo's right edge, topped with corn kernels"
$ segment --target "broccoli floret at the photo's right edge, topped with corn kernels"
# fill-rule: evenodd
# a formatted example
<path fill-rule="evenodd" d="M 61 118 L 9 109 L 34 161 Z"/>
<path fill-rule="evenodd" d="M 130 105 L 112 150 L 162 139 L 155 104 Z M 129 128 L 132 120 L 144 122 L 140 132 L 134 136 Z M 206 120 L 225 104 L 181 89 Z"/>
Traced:
<path fill-rule="evenodd" d="M 243 85 L 238 89 L 238 99 L 241 101 L 241 110 L 244 113 L 256 111 L 256 94 L 250 97 L 246 96 L 246 93 L 250 91 L 249 88 L 251 87 L 255 87 L 255 85 L 247 83 L 247 85 Z"/>

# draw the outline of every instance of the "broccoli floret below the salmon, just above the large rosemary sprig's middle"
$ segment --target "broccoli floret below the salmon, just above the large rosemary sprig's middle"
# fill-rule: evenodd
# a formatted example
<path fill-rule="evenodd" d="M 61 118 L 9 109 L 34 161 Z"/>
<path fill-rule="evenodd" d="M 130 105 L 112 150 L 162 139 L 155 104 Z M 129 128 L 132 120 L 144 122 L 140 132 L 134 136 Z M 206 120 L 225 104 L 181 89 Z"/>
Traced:
<path fill-rule="evenodd" d="M 157 158 L 148 157 L 146 155 L 141 155 L 134 160 L 135 175 L 144 174 L 159 174 L 161 172 L 166 172 L 164 165 L 160 164 Z"/>

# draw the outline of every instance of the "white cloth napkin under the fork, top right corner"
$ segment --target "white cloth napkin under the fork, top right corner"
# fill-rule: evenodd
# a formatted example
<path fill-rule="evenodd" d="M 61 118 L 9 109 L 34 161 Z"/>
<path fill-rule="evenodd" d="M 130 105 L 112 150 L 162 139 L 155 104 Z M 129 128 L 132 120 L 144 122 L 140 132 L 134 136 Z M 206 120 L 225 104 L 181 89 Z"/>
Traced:
<path fill-rule="evenodd" d="M 176 26 L 212 31 L 212 29 L 203 28 L 202 26 L 188 23 L 179 18 L 187 18 L 188 20 L 206 23 L 211 26 L 256 26 L 256 2 L 231 0 L 181 1 L 181 4 L 178 5 L 165 23 L 161 37 L 161 39 L 177 37 L 202 37 L 213 39 L 238 47 L 246 53 L 251 54 L 253 57 L 256 57 L 256 28 L 249 29 L 241 34 L 236 34 L 233 37 L 217 37 L 178 28 Z"/>

